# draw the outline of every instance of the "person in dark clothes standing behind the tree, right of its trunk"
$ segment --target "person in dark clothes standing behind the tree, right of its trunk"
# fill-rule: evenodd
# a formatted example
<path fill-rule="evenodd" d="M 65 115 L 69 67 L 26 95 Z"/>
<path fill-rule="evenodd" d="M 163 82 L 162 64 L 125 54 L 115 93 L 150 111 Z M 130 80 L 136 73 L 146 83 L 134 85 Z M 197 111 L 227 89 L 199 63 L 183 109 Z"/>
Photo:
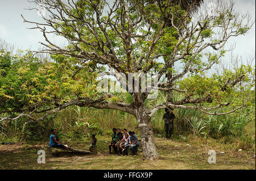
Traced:
<path fill-rule="evenodd" d="M 173 111 L 174 109 L 171 109 Z M 163 120 L 164 120 L 164 130 L 166 131 L 166 138 L 171 138 L 172 133 L 174 133 L 174 112 L 170 112 L 168 108 L 164 110 Z M 170 136 L 168 136 L 170 135 Z"/>

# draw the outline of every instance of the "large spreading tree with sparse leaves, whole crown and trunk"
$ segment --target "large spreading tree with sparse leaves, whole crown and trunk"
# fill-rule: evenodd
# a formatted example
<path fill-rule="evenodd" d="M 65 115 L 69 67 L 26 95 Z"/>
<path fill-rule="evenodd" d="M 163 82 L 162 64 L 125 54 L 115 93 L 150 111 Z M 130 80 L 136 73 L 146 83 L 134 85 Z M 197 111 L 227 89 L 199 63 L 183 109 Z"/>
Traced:
<path fill-rule="evenodd" d="M 244 35 L 252 26 L 250 16 L 234 11 L 232 2 L 216 1 L 214 15 L 201 9 L 189 11 L 195 1 L 33 2 L 39 7 L 43 4 L 47 15 L 42 14 L 41 23 L 22 16 L 24 22 L 35 24 L 32 28 L 42 31 L 46 43 L 41 44 L 46 49 L 40 52 L 52 54 L 53 60 L 60 65 L 48 62 L 49 65 L 36 69 L 35 75 L 44 78 L 35 77 L 32 81 L 38 82 L 34 88 L 40 85 L 43 92 L 31 91 L 28 104 L 9 110 L 8 106 L 2 108 L 2 112 L 18 115 L 1 120 L 27 116 L 31 121 L 40 121 L 72 105 L 125 111 L 138 120 L 144 158 L 156 159 L 159 154 L 151 127 L 151 117 L 156 111 L 168 107 L 224 115 L 245 107 L 250 100 L 253 86 L 249 78 L 250 66 L 207 75 L 207 70 L 224 56 L 227 50 L 224 45 L 230 37 Z M 184 6 L 177 2 L 191 4 Z M 63 36 L 68 45 L 61 47 L 53 43 L 48 34 Z M 115 92 L 98 91 L 99 81 L 95 78 L 97 73 L 106 70 L 106 66 L 112 69 L 105 72 L 106 75 L 114 75 L 117 81 L 126 85 L 130 83 L 129 73 L 134 73 L 132 86 L 123 87 L 132 96 L 131 103 L 121 100 Z M 20 74 L 29 70 L 20 68 Z M 144 87 L 143 77 L 136 77 L 143 73 L 152 73 L 158 78 L 170 73 L 171 77 L 168 82 L 155 82 L 154 85 L 148 85 L 151 80 L 147 80 Z M 39 83 L 41 80 L 44 87 Z M 175 102 L 169 99 L 146 107 L 145 100 L 152 90 L 174 90 L 183 96 Z M 2 96 L 6 101 L 15 99 L 15 95 L 3 91 Z"/>

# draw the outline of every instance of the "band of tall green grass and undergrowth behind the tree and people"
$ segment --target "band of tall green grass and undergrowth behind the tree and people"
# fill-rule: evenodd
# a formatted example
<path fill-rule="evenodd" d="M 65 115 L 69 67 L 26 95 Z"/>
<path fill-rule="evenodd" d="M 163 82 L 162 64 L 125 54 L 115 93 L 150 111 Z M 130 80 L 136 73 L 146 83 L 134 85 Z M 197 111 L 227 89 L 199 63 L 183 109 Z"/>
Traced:
<path fill-rule="evenodd" d="M 128 93 L 114 92 L 114 94 L 127 103 L 133 101 Z M 175 91 L 173 96 L 174 101 L 183 99 L 183 96 Z M 167 94 L 159 91 L 157 99 L 146 99 L 145 103 L 148 108 L 152 108 L 166 100 Z M 196 110 L 175 109 L 174 132 L 175 134 L 198 135 L 197 133 L 204 129 L 204 134 L 213 138 L 229 135 L 240 137 L 245 125 L 255 120 L 254 108 L 255 106 L 249 107 L 225 116 L 208 116 Z M 164 110 L 159 110 L 152 116 L 151 123 L 155 134 L 164 135 L 163 114 Z M 71 106 L 55 115 L 48 116 L 39 123 L 31 123 L 24 127 L 26 121 L 28 121 L 26 117 L 11 122 L 2 121 L 0 123 L 1 140 L 8 137 L 18 137 L 19 140 L 48 139 L 52 128 L 57 128 L 65 138 L 87 137 L 92 133 L 109 135 L 112 133 L 112 128 L 126 128 L 139 134 L 138 123 L 133 115 L 123 111 L 98 110 L 92 107 Z M 197 129 L 196 126 L 199 123 L 201 127 Z"/>

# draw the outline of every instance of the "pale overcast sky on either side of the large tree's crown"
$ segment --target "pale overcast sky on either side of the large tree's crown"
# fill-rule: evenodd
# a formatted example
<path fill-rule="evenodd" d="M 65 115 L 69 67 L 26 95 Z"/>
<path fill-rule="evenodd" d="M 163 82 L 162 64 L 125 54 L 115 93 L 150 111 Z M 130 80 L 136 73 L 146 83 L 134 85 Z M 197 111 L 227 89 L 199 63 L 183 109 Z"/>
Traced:
<path fill-rule="evenodd" d="M 226 0 L 225 0 L 226 1 Z M 234 0 L 235 7 L 241 12 L 249 12 L 255 19 L 255 0 Z M 23 23 L 22 14 L 28 20 L 42 21 L 38 13 L 24 10 L 34 5 L 27 0 L 0 0 L 0 39 L 14 44 L 20 49 L 37 50 L 39 41 L 44 41 L 42 32 L 39 30 L 28 30 L 31 24 Z M 55 38 L 55 42 L 63 42 Z M 229 43 L 236 42 L 233 53 L 242 57 L 251 57 L 255 54 L 255 25 L 245 36 L 233 38 Z"/>

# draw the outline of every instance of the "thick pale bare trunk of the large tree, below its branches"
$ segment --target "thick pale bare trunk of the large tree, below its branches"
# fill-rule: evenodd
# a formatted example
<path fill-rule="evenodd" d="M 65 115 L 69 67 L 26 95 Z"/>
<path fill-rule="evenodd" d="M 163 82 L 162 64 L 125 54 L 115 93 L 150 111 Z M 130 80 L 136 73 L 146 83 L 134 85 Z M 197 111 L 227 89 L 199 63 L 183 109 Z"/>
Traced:
<path fill-rule="evenodd" d="M 136 111 L 136 118 L 139 123 L 139 131 L 141 132 L 141 144 L 143 149 L 143 157 L 145 159 L 159 158 L 158 151 L 156 151 L 155 138 L 151 125 L 151 117 L 147 111 L 142 109 Z"/>

